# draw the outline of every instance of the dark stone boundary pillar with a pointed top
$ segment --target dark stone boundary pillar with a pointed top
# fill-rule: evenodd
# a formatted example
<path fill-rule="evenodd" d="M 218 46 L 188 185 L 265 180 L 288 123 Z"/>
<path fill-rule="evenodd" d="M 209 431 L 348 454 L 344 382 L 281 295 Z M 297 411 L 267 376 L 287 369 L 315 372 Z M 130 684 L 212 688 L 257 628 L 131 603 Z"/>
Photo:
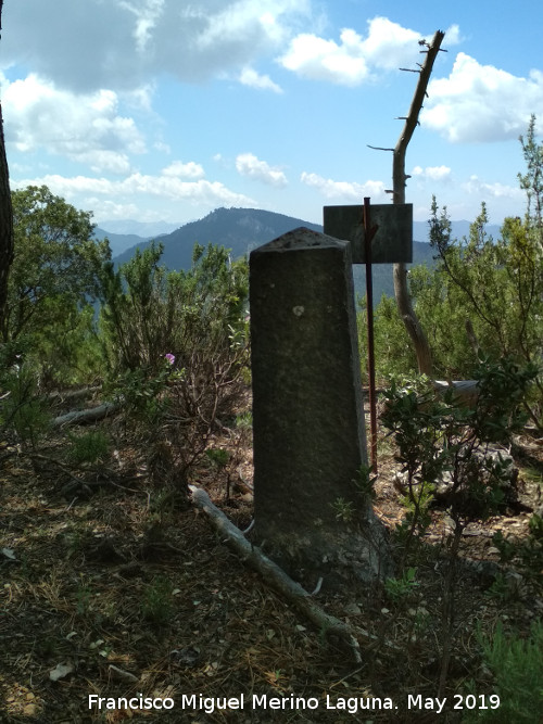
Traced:
<path fill-rule="evenodd" d="M 384 529 L 356 485 L 367 453 L 350 243 L 300 228 L 254 250 L 250 309 L 254 539 L 325 583 L 382 575 Z"/>

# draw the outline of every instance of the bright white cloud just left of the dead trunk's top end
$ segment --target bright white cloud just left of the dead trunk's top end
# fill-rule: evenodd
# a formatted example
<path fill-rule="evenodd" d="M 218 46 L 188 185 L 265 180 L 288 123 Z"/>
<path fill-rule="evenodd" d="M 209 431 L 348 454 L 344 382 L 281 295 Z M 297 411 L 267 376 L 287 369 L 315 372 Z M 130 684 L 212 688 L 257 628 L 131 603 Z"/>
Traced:
<path fill-rule="evenodd" d="M 376 69 L 395 69 L 418 60 L 420 34 L 387 17 L 368 21 L 367 36 L 344 28 L 340 42 L 303 33 L 279 59 L 283 67 L 304 78 L 357 86 Z"/>

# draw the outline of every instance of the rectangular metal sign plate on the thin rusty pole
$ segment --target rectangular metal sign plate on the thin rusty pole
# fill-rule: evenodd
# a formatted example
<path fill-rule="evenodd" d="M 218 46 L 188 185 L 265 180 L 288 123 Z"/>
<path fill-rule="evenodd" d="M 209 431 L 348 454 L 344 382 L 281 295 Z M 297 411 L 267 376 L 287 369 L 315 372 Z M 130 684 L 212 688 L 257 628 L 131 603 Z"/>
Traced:
<path fill-rule="evenodd" d="M 375 204 L 370 224 L 378 226 L 371 243 L 372 264 L 413 262 L 413 204 Z M 353 264 L 365 264 L 364 206 L 325 206 L 325 233 L 350 241 Z"/>

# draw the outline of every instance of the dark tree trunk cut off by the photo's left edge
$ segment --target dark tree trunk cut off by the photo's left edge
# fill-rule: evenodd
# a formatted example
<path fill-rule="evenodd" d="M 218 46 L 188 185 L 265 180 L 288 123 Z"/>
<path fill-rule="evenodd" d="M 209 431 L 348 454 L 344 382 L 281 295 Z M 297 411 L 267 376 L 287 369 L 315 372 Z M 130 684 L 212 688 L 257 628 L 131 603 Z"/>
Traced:
<path fill-rule="evenodd" d="M 0 0 L 0 30 L 2 29 L 2 5 Z M 0 335 L 8 335 L 5 306 L 8 302 L 8 277 L 13 262 L 13 212 L 11 207 L 10 173 L 5 155 L 2 105 L 0 103 Z"/>

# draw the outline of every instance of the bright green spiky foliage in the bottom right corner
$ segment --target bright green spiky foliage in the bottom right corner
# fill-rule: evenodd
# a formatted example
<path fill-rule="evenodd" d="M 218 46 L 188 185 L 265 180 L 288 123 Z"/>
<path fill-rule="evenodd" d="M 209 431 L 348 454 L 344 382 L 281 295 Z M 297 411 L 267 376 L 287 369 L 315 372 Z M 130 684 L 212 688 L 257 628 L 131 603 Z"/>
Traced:
<path fill-rule="evenodd" d="M 466 713 L 463 721 L 492 722 L 509 724 L 509 722 L 536 721 L 536 712 L 543 706 L 543 624 L 532 624 L 530 637 L 519 638 L 504 634 L 501 623 L 497 624 L 492 638 L 487 638 L 481 631 L 477 638 L 482 646 L 483 658 L 495 678 L 493 694 L 500 695 L 500 708 L 479 709 Z M 473 682 L 469 689 L 476 690 Z M 534 719 L 535 716 L 535 719 Z"/>

